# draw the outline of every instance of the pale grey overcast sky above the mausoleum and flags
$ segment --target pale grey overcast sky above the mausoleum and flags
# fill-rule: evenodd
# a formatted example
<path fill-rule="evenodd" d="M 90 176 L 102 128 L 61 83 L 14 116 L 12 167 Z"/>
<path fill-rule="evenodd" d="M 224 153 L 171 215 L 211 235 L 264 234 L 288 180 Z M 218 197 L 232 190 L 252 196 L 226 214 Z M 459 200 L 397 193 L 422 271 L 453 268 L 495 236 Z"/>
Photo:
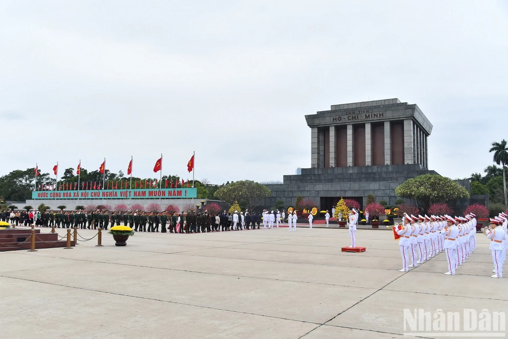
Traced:
<path fill-rule="evenodd" d="M 310 167 L 305 114 L 398 98 L 434 126 L 429 168 L 508 139 L 506 1 L 0 3 L 0 175 L 34 167 L 282 180 Z"/>

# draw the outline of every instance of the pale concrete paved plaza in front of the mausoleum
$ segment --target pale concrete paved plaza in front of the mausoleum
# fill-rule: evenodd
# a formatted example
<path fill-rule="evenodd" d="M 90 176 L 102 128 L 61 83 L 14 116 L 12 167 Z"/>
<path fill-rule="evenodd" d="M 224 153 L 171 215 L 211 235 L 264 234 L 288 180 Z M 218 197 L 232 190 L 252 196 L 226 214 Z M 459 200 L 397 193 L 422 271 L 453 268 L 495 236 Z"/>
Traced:
<path fill-rule="evenodd" d="M 96 238 L 2 252 L 1 336 L 399 338 L 404 309 L 508 314 L 506 279 L 490 278 L 488 241 L 477 236 L 455 276 L 443 274 L 444 254 L 399 272 L 386 230 L 359 230 L 361 254 L 340 252 L 346 229 L 324 228 L 136 233 L 125 247 L 104 232 L 101 248 Z"/>

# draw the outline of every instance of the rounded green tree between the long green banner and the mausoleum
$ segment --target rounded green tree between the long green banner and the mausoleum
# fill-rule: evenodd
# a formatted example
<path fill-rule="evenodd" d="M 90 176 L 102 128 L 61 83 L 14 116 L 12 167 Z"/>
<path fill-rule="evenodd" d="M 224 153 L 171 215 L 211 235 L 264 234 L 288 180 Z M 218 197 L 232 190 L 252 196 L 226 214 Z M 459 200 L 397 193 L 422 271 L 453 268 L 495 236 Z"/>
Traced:
<path fill-rule="evenodd" d="M 270 194 L 270 190 L 259 182 L 241 180 L 219 188 L 214 196 L 230 204 L 235 201 L 245 201 L 246 207 L 252 210 L 260 205 L 261 199 Z"/>

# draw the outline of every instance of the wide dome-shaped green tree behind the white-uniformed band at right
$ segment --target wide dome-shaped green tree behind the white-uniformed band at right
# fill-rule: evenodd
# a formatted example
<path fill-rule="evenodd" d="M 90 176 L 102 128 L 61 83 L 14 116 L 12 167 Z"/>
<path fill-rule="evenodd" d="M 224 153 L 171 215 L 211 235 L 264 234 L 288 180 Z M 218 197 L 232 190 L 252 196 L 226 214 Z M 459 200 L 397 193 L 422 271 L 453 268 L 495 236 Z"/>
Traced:
<path fill-rule="evenodd" d="M 424 210 L 436 202 L 469 198 L 465 188 L 450 178 L 438 174 L 424 174 L 408 179 L 395 189 L 399 197 L 415 199 Z"/>

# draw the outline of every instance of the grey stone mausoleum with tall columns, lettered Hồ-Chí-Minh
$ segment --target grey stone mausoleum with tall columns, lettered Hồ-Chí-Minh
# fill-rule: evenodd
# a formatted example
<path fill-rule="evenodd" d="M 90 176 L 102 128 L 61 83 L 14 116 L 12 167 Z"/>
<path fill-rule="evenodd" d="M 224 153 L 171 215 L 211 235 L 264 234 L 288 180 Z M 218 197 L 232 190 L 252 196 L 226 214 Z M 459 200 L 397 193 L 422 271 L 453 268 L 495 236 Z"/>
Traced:
<path fill-rule="evenodd" d="M 267 185 L 272 195 L 265 206 L 277 200 L 293 206 L 301 195 L 320 209 L 330 210 L 341 197 L 364 207 L 369 194 L 394 205 L 401 183 L 437 174 L 428 169 L 432 124 L 416 104 L 387 99 L 332 105 L 305 119 L 311 129 L 311 168 L 284 175 L 283 184 Z M 470 191 L 469 182 L 459 183 Z"/>

